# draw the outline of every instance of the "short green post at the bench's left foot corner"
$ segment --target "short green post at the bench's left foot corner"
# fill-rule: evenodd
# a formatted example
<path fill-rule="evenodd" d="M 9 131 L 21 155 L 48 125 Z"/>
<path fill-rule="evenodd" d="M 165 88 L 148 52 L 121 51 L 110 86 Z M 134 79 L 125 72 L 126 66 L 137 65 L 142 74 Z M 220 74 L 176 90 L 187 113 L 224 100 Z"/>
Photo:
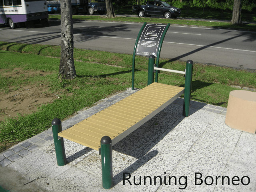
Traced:
<path fill-rule="evenodd" d="M 58 133 L 62 131 L 60 119 L 55 118 L 52 120 L 52 134 L 56 152 L 56 159 L 58 166 L 63 166 L 66 164 L 66 154 L 64 148 L 63 138 L 58 139 Z"/>

